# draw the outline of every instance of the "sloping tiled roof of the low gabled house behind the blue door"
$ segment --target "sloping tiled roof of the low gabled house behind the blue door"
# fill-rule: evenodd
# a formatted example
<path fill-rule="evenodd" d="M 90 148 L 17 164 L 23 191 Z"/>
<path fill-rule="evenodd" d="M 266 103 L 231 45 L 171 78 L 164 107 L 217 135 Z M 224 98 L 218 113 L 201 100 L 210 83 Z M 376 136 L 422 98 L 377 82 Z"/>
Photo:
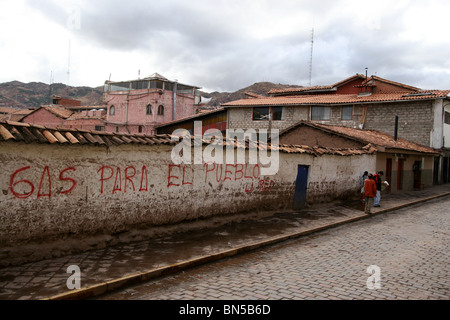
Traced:
<path fill-rule="evenodd" d="M 405 139 L 397 139 L 397 141 L 394 139 L 393 136 L 388 135 L 384 132 L 376 131 L 376 130 L 367 130 L 367 129 L 356 129 L 356 128 L 349 128 L 349 127 L 342 127 L 342 126 L 332 126 L 332 125 L 326 125 L 311 121 L 301 121 L 294 126 L 283 130 L 280 132 L 280 135 L 283 135 L 298 126 L 306 125 L 313 128 L 317 128 L 319 130 L 335 134 L 341 137 L 345 137 L 351 140 L 356 140 L 359 142 L 362 142 L 364 144 L 370 144 L 374 146 L 377 149 L 391 149 L 391 150 L 404 150 L 408 152 L 419 152 L 419 153 L 425 153 L 425 154 L 433 154 L 437 155 L 439 154 L 438 150 L 435 150 L 433 148 L 429 148 Z M 381 147 L 381 148 L 380 148 Z M 380 151 L 380 150 L 379 150 Z"/>

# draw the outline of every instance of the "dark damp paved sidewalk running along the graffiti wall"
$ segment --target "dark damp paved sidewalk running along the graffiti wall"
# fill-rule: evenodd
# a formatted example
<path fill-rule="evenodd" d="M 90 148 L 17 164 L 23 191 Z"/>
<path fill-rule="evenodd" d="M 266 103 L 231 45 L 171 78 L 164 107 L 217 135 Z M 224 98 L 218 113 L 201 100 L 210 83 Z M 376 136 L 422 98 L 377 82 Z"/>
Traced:
<path fill-rule="evenodd" d="M 383 195 L 374 214 L 450 195 L 450 184 Z M 83 299 L 185 268 L 301 237 L 345 223 L 370 218 L 360 202 L 317 205 L 298 212 L 228 224 L 160 239 L 93 250 L 73 256 L 0 269 L 0 299 Z M 71 273 L 81 270 L 81 289 L 69 290 Z"/>

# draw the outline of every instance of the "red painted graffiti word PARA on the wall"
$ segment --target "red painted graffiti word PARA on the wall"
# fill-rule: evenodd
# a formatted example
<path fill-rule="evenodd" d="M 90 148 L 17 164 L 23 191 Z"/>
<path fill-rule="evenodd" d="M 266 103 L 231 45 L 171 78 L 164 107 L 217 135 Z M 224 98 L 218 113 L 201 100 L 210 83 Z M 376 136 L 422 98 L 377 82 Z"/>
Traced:
<path fill-rule="evenodd" d="M 105 171 L 108 171 L 105 174 Z M 133 166 L 126 167 L 123 170 L 123 179 L 122 179 L 122 169 L 120 167 L 116 167 L 114 169 L 111 166 L 102 166 L 97 170 L 97 173 L 100 174 L 100 193 L 103 194 L 105 191 L 105 182 L 112 179 L 114 177 L 114 185 L 112 188 L 112 193 L 116 192 L 124 192 L 127 193 L 128 190 L 136 191 L 137 185 L 134 183 L 137 182 L 135 178 L 139 177 L 136 168 Z M 139 178 L 138 178 L 139 179 Z M 122 184 L 123 183 L 123 184 Z M 140 184 L 139 184 L 139 192 L 148 191 L 148 170 L 144 165 L 142 166 L 141 174 L 140 174 Z"/>

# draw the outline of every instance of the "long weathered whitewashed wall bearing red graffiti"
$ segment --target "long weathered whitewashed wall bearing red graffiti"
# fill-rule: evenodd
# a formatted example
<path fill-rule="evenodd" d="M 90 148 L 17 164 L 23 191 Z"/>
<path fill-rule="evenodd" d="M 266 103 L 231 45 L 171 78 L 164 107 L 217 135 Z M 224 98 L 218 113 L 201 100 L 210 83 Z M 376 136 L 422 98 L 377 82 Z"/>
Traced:
<path fill-rule="evenodd" d="M 257 164 L 176 166 L 171 149 L 1 143 L 0 263 L 289 210 L 299 164 L 310 166 L 309 203 L 354 196 L 375 167 L 372 155 L 281 153 L 263 177 Z"/>

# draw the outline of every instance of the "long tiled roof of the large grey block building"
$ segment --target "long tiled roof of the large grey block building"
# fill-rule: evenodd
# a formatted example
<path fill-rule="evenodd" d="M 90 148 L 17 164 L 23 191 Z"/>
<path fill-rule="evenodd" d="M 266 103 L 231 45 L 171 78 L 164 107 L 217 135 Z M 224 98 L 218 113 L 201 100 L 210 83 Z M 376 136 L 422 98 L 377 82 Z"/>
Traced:
<path fill-rule="evenodd" d="M 449 98 L 450 90 L 428 90 L 417 93 L 374 93 L 368 96 L 358 96 L 357 94 L 336 94 L 336 95 L 302 95 L 302 96 L 281 96 L 254 99 L 241 99 L 227 102 L 222 107 L 246 107 L 246 106 L 296 106 L 296 105 L 339 105 L 358 103 L 379 103 L 397 102 L 411 100 L 433 100 Z"/>

